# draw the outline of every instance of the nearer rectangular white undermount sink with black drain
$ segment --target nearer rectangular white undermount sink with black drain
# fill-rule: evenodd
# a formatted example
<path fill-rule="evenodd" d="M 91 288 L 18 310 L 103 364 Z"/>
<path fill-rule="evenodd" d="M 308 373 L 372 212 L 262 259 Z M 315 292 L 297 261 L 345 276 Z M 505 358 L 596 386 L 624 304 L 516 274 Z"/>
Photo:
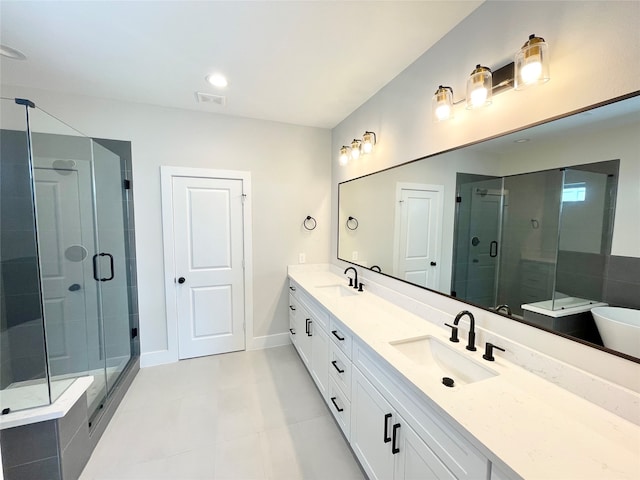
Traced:
<path fill-rule="evenodd" d="M 466 385 L 498 375 L 494 370 L 430 335 L 390 342 L 390 345 L 440 380 L 444 377 L 452 378 L 454 385 Z"/>

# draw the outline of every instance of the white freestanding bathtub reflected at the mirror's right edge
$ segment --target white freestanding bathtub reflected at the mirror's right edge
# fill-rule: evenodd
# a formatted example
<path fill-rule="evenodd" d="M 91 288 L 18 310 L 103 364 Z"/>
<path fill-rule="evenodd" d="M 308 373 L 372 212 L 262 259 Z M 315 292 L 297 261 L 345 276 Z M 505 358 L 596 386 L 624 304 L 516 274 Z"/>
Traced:
<path fill-rule="evenodd" d="M 605 347 L 640 358 L 640 310 L 596 307 L 591 315 Z"/>

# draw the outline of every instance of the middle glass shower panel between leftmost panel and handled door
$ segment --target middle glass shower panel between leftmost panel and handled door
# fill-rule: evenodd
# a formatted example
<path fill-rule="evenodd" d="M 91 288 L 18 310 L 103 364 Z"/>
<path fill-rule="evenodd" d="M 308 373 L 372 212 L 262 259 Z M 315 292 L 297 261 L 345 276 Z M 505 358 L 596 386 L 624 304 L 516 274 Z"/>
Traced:
<path fill-rule="evenodd" d="M 97 348 L 100 292 L 93 280 L 94 234 L 91 140 L 34 108 L 29 126 L 33 158 L 42 299 L 52 401 L 76 377 L 104 380 Z M 94 372 L 94 370 L 97 370 Z M 91 396 L 91 395 L 89 395 Z"/>

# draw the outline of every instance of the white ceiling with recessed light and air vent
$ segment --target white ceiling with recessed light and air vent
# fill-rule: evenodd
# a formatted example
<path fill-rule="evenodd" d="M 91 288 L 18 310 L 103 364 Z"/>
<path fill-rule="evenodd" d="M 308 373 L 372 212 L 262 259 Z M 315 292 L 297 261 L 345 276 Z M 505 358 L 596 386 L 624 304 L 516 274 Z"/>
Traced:
<path fill-rule="evenodd" d="M 5 85 L 332 128 L 481 1 L 0 1 Z M 229 86 L 205 82 L 213 71 Z M 425 86 L 425 88 L 431 88 Z M 196 103 L 195 92 L 226 106 Z"/>

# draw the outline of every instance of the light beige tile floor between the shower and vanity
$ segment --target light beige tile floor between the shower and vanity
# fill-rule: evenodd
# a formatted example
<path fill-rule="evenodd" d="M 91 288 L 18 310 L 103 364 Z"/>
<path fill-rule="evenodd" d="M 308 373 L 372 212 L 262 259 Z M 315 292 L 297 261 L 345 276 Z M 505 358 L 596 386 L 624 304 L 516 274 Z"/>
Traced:
<path fill-rule="evenodd" d="M 80 480 L 362 478 L 286 346 L 140 370 Z"/>

